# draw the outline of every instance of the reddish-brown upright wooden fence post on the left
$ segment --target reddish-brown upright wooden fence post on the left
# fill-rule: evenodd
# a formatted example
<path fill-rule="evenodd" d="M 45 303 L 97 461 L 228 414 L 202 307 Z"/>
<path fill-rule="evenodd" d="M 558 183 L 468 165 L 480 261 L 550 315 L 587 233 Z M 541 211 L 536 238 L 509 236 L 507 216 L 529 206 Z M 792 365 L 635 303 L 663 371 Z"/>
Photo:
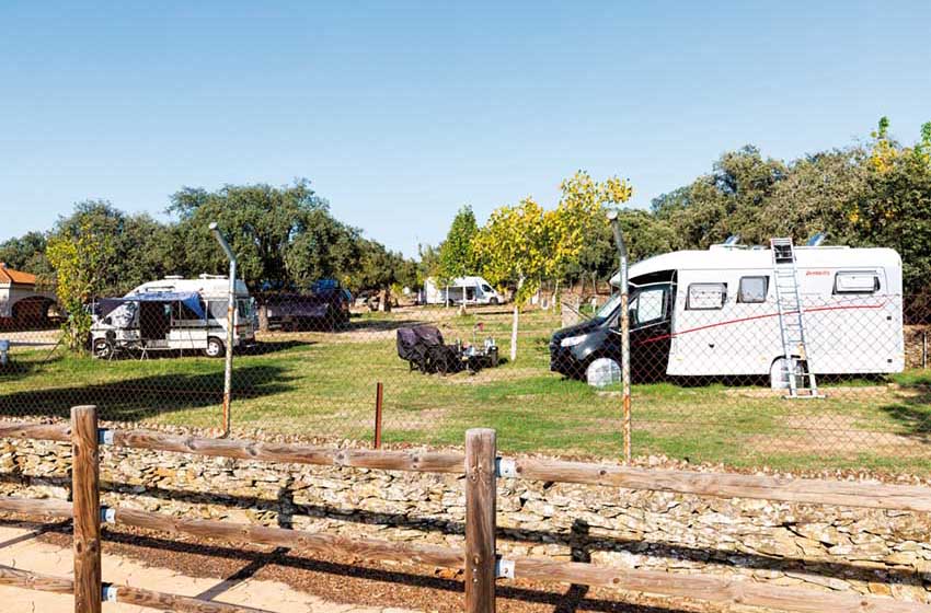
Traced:
<path fill-rule="evenodd" d="M 74 613 L 101 612 L 100 456 L 97 409 L 71 408 L 74 499 Z"/>

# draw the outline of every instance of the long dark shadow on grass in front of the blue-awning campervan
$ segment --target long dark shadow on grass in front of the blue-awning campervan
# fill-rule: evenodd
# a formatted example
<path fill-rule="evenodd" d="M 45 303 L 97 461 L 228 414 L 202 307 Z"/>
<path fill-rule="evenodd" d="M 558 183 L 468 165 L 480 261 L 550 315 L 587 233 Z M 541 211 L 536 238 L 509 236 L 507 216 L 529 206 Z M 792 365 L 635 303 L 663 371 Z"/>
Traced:
<path fill-rule="evenodd" d="M 294 389 L 291 378 L 278 366 L 262 365 L 233 369 L 234 398 L 256 398 Z M 21 391 L 0 394 L 0 416 L 67 417 L 71 407 L 95 404 L 101 418 L 137 421 L 163 413 L 219 406 L 223 396 L 223 369 L 188 374 L 152 374 L 107 383 Z"/>

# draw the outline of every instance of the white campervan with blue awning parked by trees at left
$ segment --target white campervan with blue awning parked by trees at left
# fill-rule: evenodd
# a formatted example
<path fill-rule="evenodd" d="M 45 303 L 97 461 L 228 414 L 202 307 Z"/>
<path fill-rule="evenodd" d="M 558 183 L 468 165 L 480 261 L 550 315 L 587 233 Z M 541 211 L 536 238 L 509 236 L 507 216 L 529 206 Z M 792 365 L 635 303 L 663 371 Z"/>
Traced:
<path fill-rule="evenodd" d="M 123 298 L 97 303 L 91 328 L 95 356 L 119 349 L 200 350 L 209 357 L 226 351 L 229 279 L 165 277 L 137 287 Z M 234 347 L 255 343 L 255 305 L 242 280 L 235 281 Z"/>

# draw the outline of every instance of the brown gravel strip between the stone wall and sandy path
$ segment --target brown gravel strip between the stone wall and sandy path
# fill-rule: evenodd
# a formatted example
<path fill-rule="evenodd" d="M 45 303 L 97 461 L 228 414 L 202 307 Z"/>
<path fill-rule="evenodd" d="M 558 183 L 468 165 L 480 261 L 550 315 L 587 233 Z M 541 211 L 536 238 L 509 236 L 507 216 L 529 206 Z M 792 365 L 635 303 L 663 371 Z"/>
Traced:
<path fill-rule="evenodd" d="M 42 530 L 39 540 L 70 546 L 70 523 L 36 524 L 22 518 L 0 520 Z M 455 571 L 414 565 L 390 565 L 345 556 L 302 555 L 299 551 L 242 547 L 222 541 L 174 537 L 163 533 L 106 527 L 104 555 L 170 568 L 191 577 L 255 578 L 287 583 L 324 600 L 380 608 L 452 613 L 462 611 L 462 579 Z M 686 613 L 716 611 L 705 606 L 653 600 L 614 590 L 510 581 L 498 586 L 503 613 Z"/>

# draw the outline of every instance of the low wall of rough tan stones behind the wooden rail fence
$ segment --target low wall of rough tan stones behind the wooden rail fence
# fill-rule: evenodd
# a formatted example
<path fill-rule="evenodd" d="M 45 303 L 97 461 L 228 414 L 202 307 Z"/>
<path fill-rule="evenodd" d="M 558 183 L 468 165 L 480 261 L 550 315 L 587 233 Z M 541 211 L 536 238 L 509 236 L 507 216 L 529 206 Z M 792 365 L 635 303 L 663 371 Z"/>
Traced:
<path fill-rule="evenodd" d="M 657 458 L 643 463 L 681 467 Z M 68 444 L 0 441 L 0 494 L 67 498 L 69 465 Z M 453 475 L 104 448 L 101 477 L 110 506 L 350 536 L 463 540 L 464 496 Z M 509 479 L 498 491 L 504 553 L 931 602 L 927 513 Z"/>

